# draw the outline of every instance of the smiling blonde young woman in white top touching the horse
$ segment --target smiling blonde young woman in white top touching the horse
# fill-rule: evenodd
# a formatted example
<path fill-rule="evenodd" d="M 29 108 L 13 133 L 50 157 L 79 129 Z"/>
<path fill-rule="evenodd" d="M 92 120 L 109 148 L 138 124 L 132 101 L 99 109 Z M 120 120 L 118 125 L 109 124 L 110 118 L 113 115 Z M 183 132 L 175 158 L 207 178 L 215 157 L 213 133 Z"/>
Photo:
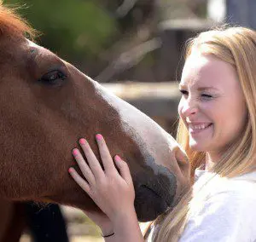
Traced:
<path fill-rule="evenodd" d="M 73 150 L 84 178 L 73 179 L 106 216 L 87 212 L 106 241 L 255 241 L 256 33 L 243 27 L 202 32 L 187 46 L 177 141 L 189 156 L 194 186 L 143 237 L 125 161 L 114 162 L 96 135 L 104 170 L 80 140 Z M 115 168 L 115 165 L 117 169 Z"/>

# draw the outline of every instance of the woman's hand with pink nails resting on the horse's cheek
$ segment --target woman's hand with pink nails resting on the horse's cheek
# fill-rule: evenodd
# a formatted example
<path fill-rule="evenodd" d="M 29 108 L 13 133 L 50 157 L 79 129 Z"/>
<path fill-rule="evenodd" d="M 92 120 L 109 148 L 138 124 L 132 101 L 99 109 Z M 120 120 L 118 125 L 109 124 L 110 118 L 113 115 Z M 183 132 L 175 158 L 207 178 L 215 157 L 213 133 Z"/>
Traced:
<path fill-rule="evenodd" d="M 108 147 L 102 135 L 96 135 L 96 141 L 102 158 L 102 166 L 95 154 L 90 149 L 90 145 L 84 139 L 79 140 L 79 144 L 84 151 L 88 164 L 84 161 L 79 149 L 73 149 L 73 156 L 79 164 L 84 178 L 79 176 L 76 170 L 69 169 L 69 173 L 74 181 L 89 194 L 96 205 L 108 216 L 111 222 L 134 211 L 135 192 L 131 173 L 128 165 L 119 158 L 114 157 L 113 164 Z M 100 226 L 100 224 L 98 224 Z"/>

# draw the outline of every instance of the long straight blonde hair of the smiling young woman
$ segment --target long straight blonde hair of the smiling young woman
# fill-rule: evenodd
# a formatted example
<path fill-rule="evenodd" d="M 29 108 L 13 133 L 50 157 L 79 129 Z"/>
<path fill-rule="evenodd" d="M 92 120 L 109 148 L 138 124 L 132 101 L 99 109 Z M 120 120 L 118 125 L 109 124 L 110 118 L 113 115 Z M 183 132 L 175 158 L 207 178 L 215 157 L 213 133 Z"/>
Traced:
<path fill-rule="evenodd" d="M 233 177 L 254 170 L 256 154 L 256 32 L 244 27 L 222 26 L 208 32 L 201 32 L 187 44 L 187 58 L 192 50 L 203 55 L 213 55 L 236 68 L 241 89 L 247 104 L 247 123 L 233 144 L 225 151 L 212 172 L 219 176 Z M 206 154 L 189 147 L 189 133 L 180 119 L 177 141 L 186 151 L 191 164 L 192 176 L 195 169 L 204 164 Z M 196 195 L 195 195 L 196 196 Z M 174 242 L 183 233 L 189 216 L 189 202 L 193 199 L 192 188 L 184 194 L 178 205 L 166 215 L 159 216 L 160 224 L 156 242 Z"/>

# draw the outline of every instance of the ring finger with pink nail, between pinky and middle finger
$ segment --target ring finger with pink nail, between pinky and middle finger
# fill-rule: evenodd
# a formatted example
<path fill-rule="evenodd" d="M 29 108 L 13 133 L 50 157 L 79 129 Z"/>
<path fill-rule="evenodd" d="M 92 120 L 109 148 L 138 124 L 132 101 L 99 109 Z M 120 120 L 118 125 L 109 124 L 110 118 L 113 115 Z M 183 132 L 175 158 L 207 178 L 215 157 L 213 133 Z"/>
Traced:
<path fill-rule="evenodd" d="M 79 149 L 73 149 L 73 157 L 79 164 L 79 168 L 82 171 L 84 178 L 89 182 L 90 185 L 95 184 L 95 177 L 92 174 L 89 165 L 85 162 L 84 157 L 79 152 Z"/>

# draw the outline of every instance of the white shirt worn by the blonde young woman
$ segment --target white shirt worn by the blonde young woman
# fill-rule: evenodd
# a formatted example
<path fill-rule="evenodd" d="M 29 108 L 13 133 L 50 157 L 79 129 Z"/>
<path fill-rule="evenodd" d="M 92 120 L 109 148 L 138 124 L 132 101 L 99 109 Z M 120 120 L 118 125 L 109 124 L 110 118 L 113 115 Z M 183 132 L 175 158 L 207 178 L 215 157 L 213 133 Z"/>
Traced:
<path fill-rule="evenodd" d="M 195 179 L 196 195 L 179 242 L 256 241 L 256 172 L 226 178 L 195 170 Z"/>

